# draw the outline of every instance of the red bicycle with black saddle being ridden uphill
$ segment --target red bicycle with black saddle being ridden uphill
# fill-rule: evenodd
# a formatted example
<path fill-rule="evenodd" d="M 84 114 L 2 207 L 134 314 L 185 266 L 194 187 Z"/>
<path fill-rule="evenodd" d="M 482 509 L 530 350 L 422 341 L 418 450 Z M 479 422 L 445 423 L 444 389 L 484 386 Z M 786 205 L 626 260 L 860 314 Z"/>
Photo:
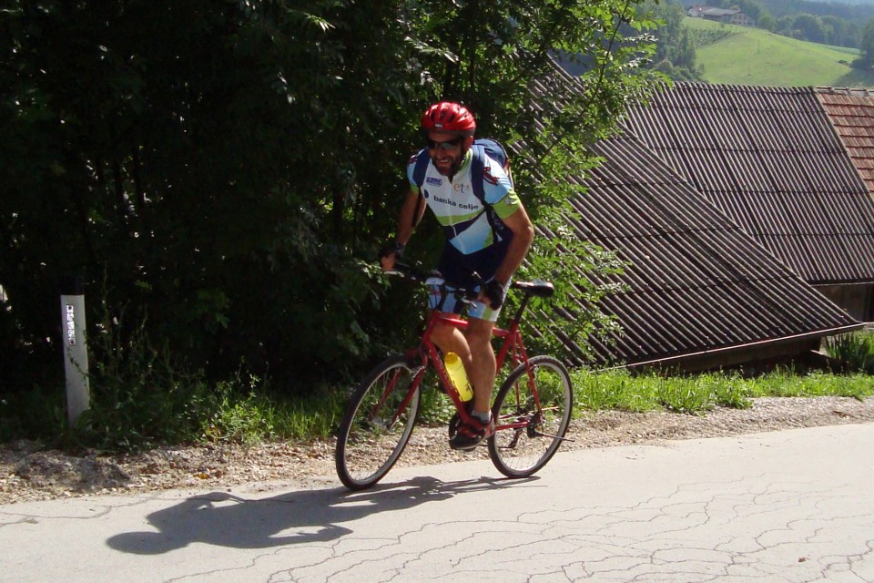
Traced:
<path fill-rule="evenodd" d="M 467 326 L 462 316 L 440 311 L 447 297 L 442 278 L 434 271 L 426 273 L 403 265 L 386 273 L 417 283 L 440 285 L 442 300 L 430 312 L 418 346 L 383 360 L 351 397 L 335 450 L 337 474 L 351 490 L 376 485 L 401 457 L 418 420 L 422 381 L 428 370 L 437 374 L 443 392 L 455 406 L 456 413 L 449 424 L 450 437 L 459 424 L 471 418 L 431 340 L 437 322 L 462 329 Z M 522 301 L 509 325 L 495 327 L 493 337 L 503 339 L 496 353 L 497 369 L 501 370 L 508 359 L 513 368 L 495 394 L 492 405 L 495 431 L 487 445 L 498 471 L 507 477 L 521 478 L 532 476 L 546 465 L 566 439 L 574 399 L 564 363 L 547 355 L 529 357 L 519 327 L 532 297 L 551 297 L 553 284 L 515 281 L 511 289 L 523 293 Z M 464 290 L 455 294 L 465 303 L 473 299 L 471 292 Z"/>

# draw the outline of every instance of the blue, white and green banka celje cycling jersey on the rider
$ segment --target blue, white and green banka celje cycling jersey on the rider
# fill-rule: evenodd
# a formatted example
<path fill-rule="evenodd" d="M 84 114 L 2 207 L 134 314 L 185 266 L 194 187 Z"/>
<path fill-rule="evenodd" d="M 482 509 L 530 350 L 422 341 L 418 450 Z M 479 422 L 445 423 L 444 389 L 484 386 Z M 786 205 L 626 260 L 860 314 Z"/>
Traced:
<path fill-rule="evenodd" d="M 407 163 L 407 179 L 413 192 L 419 192 L 419 187 L 413 179 L 413 170 L 419 156 L 427 156 L 427 150 L 422 150 Z M 520 207 L 519 197 L 513 190 L 513 183 L 504 172 L 501 164 L 485 156 L 483 169 L 483 193 L 485 201 L 477 198 L 471 186 L 471 160 L 473 152 L 468 150 L 452 180 L 443 176 L 428 162 L 422 181 L 422 197 L 431 208 L 434 216 L 440 222 L 446 239 L 458 251 L 470 255 L 476 251 L 491 246 L 501 240 L 501 236 L 493 229 L 488 208 L 493 210 L 497 219 L 505 219 Z"/>

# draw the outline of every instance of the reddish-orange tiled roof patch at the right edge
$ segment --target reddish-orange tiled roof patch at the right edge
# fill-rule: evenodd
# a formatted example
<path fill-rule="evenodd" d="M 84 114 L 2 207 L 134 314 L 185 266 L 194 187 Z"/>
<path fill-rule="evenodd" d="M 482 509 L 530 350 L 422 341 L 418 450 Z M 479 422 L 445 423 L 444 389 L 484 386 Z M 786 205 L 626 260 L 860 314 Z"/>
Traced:
<path fill-rule="evenodd" d="M 874 94 L 868 89 L 817 87 L 831 119 L 869 192 L 874 192 Z"/>

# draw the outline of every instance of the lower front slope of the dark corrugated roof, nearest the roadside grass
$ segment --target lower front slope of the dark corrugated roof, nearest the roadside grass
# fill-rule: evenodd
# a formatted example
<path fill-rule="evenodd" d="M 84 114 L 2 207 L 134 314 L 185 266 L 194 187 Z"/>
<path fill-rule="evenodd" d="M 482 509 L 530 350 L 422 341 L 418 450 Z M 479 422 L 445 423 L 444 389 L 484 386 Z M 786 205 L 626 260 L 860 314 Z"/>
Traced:
<path fill-rule="evenodd" d="M 604 164 L 572 200 L 581 234 L 632 265 L 598 283 L 623 333 L 591 346 L 602 362 L 643 363 L 853 326 L 634 138 L 595 145 Z M 580 347 L 568 342 L 574 352 Z"/>

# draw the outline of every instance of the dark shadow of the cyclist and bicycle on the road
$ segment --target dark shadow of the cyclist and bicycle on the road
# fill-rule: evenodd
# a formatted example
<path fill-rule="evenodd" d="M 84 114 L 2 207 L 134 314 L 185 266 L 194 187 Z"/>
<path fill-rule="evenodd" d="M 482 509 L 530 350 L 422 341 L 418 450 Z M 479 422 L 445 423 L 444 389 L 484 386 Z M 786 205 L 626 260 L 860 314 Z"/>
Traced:
<path fill-rule="evenodd" d="M 428 476 L 364 492 L 331 488 L 259 499 L 212 492 L 149 514 L 147 522 L 155 531 L 120 533 L 109 537 L 107 546 L 125 553 L 158 555 L 192 543 L 268 548 L 324 542 L 352 534 L 341 524 L 375 513 L 408 510 L 465 492 L 523 486 L 536 479 L 441 482 Z"/>

